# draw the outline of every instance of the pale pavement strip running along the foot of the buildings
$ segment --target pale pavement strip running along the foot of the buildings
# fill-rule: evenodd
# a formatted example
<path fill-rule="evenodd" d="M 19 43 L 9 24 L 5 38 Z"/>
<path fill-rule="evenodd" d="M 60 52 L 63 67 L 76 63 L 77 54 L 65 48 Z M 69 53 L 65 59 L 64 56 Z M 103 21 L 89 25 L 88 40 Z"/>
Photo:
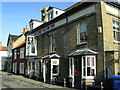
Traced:
<path fill-rule="evenodd" d="M 3 72 L 2 71 L 2 75 L 6 75 L 6 76 L 9 76 L 9 78 L 14 78 L 14 79 L 17 79 L 17 80 L 20 80 L 20 81 L 23 81 L 23 82 L 26 82 L 26 83 L 30 83 L 30 84 L 33 84 L 33 85 L 37 85 L 37 86 L 40 86 L 40 87 L 44 87 L 44 88 L 51 88 L 51 89 L 72 89 L 72 90 L 75 90 L 73 88 L 67 88 L 67 87 L 62 87 L 62 86 L 58 86 L 58 85 L 52 85 L 52 84 L 47 84 L 47 83 L 44 83 L 44 82 L 40 82 L 40 81 L 36 81 L 36 80 L 33 80 L 33 79 L 29 79 L 29 78 L 25 78 L 21 75 L 14 75 L 12 73 L 8 73 L 8 72 Z"/>

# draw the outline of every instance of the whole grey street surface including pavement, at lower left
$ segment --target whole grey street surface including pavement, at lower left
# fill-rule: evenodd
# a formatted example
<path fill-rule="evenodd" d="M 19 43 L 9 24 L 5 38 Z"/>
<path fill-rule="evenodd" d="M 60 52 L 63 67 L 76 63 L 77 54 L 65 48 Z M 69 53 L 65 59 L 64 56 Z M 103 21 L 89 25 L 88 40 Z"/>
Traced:
<path fill-rule="evenodd" d="M 0 73 L 1 74 L 1 73 Z M 1 78 L 1 77 L 0 77 Z M 24 78 L 21 75 L 14 75 L 7 72 L 2 72 L 2 88 L 32 88 L 32 89 L 70 89 L 57 85 L 46 84 L 32 79 Z"/>

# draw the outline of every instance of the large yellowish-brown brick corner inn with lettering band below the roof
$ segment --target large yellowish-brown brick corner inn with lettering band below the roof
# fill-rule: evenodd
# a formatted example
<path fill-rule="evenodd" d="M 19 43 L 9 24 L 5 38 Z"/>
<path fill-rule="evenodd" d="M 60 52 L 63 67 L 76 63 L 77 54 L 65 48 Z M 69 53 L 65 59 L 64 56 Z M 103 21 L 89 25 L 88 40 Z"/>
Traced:
<path fill-rule="evenodd" d="M 40 78 L 62 85 L 66 79 L 67 84 L 81 88 L 100 85 L 106 67 L 110 76 L 118 75 L 119 9 L 114 2 L 79 2 L 33 29 L 30 33 L 37 40 Z"/>

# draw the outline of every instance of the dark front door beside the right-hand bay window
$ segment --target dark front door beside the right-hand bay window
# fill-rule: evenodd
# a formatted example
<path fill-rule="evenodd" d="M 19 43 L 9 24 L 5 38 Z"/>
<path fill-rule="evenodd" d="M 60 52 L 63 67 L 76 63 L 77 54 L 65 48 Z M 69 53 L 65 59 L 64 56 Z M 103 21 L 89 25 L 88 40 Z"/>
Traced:
<path fill-rule="evenodd" d="M 75 61 L 74 61 L 74 68 L 75 68 L 75 74 L 74 74 L 74 87 L 75 88 L 81 88 L 81 75 L 82 75 L 82 65 L 81 65 L 81 62 L 82 62 L 82 60 L 81 60 L 81 58 L 79 57 L 79 58 L 75 58 L 74 59 Z"/>

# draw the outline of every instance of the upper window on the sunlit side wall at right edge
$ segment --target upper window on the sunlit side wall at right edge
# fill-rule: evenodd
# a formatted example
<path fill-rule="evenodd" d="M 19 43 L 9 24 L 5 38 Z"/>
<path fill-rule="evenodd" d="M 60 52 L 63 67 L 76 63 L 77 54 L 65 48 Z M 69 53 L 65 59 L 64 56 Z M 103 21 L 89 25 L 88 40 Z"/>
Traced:
<path fill-rule="evenodd" d="M 113 33 L 114 40 L 120 42 L 120 22 L 117 20 L 113 20 Z"/>

